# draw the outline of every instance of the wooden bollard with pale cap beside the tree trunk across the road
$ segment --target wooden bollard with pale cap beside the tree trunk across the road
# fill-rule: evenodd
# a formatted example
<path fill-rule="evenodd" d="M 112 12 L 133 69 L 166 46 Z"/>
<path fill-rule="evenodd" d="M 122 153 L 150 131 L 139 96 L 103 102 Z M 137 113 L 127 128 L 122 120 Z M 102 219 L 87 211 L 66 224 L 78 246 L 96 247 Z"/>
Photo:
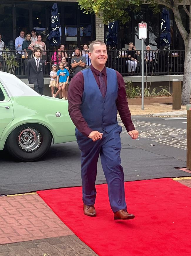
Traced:
<path fill-rule="evenodd" d="M 181 109 L 181 79 L 172 79 L 172 109 Z"/>

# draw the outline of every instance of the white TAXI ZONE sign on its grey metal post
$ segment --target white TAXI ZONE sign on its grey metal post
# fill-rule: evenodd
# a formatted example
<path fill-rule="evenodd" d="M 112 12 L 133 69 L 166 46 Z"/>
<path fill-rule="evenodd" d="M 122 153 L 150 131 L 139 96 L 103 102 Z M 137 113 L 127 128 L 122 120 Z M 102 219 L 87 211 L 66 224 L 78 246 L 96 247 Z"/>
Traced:
<path fill-rule="evenodd" d="M 141 109 L 144 110 L 144 41 L 147 38 L 147 23 L 139 23 L 139 39 L 141 39 Z"/>

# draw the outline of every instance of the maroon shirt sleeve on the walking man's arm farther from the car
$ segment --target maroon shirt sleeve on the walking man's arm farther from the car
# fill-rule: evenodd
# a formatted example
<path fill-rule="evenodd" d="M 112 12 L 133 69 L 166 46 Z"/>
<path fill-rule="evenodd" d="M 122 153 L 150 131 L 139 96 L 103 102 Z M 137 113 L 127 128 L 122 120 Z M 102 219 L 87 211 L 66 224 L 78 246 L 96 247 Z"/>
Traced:
<path fill-rule="evenodd" d="M 128 106 L 128 101 L 125 92 L 125 82 L 123 76 L 116 71 L 118 81 L 118 97 L 116 101 L 117 109 L 121 118 L 121 121 L 125 125 L 127 132 L 135 130 L 135 127 L 131 120 L 131 113 Z"/>

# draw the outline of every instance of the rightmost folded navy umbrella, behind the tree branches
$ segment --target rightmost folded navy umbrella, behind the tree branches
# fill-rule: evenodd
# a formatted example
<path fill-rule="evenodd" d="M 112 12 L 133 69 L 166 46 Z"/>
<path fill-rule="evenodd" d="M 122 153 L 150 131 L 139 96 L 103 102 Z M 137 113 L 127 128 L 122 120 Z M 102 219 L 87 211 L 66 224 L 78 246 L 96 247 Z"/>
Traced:
<path fill-rule="evenodd" d="M 162 33 L 160 34 L 160 44 L 161 45 L 170 45 L 171 36 L 170 36 L 170 14 L 167 9 L 162 10 L 162 17 L 161 17 L 161 30 Z"/>

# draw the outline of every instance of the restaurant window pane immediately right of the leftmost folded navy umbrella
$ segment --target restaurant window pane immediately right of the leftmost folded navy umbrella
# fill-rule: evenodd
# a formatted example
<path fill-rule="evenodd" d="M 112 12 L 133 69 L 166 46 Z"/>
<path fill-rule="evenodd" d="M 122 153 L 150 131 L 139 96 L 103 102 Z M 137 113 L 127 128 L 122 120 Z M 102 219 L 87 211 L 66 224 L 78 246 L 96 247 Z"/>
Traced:
<path fill-rule="evenodd" d="M 76 6 L 64 7 L 65 40 L 67 50 L 73 50 L 77 46 L 77 8 Z"/>

